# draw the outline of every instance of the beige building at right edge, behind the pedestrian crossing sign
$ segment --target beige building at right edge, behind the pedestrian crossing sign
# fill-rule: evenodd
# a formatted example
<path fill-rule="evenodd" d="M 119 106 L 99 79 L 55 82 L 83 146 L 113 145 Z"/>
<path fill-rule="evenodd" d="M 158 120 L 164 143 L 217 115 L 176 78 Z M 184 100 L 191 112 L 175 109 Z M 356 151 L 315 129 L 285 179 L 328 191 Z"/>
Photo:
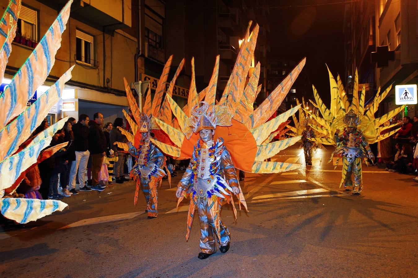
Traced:
<path fill-rule="evenodd" d="M 379 0 L 375 6 L 376 45 L 387 45 L 395 51 L 395 60 L 387 67 L 377 68 L 377 86 L 418 83 L 418 1 Z M 385 100 L 382 113 L 395 108 L 395 90 Z M 406 113 L 418 115 L 417 105 L 408 105 Z"/>

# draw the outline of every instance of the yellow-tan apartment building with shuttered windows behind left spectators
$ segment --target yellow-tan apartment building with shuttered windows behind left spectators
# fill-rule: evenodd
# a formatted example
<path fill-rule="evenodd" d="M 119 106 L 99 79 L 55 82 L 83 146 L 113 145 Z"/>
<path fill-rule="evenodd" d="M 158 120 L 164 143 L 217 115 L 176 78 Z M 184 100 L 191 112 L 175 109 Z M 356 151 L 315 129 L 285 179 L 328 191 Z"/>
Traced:
<path fill-rule="evenodd" d="M 7 7 L 8 2 L 1 0 L 0 5 Z M 3 82 L 7 83 L 25 62 L 65 4 L 65 0 L 22 1 Z M 92 117 L 95 112 L 102 112 L 105 121 L 123 116 L 122 108 L 127 108 L 123 77 L 134 79 L 137 40 L 121 29 L 131 25 L 130 1 L 91 0 L 72 4 L 54 67 L 36 92 L 38 96 L 42 94 L 69 67 L 76 65 L 63 99 L 51 109 L 48 120 L 55 122 L 65 116 L 77 119 L 80 113 Z"/>

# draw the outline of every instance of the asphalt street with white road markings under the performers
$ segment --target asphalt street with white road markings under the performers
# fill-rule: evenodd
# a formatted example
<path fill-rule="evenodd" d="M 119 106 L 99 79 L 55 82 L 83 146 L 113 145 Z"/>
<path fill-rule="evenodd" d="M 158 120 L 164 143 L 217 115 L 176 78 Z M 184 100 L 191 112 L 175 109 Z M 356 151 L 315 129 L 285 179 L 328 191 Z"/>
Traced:
<path fill-rule="evenodd" d="M 186 210 L 176 209 L 181 171 L 158 189 L 158 218 L 147 219 L 133 181 L 63 199 L 69 208 L 25 225 L 0 225 L 0 277 L 418 277 L 418 182 L 363 164 L 364 190 L 339 187 L 331 148 L 312 166 L 293 147 L 273 160 L 290 173 L 246 173 L 249 212 L 222 207 L 227 253 L 199 260 L 199 219 L 189 241 Z M 177 211 L 178 210 L 178 211 Z"/>

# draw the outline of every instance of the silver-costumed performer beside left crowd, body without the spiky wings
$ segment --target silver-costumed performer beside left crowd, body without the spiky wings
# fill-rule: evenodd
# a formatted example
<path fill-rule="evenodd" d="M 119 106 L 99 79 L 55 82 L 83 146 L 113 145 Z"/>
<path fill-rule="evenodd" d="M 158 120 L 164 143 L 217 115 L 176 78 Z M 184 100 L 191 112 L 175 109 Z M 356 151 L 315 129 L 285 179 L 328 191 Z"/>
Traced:
<path fill-rule="evenodd" d="M 152 135 L 149 131 L 150 119 L 144 113 L 140 114 L 140 119 L 141 123 L 138 132 L 141 133 L 141 140 L 139 148 L 137 149 L 135 146 L 129 148 L 130 154 L 137 159 L 137 163 L 132 170 L 136 175 L 134 203 L 136 205 L 138 201 L 138 191 L 140 187 L 144 193 L 145 201 L 147 202 L 147 210 L 145 210 L 145 212 L 148 212 L 148 219 L 151 219 L 158 216 L 157 185 L 166 173 L 162 169 L 164 163 L 163 153 L 150 142 Z"/>

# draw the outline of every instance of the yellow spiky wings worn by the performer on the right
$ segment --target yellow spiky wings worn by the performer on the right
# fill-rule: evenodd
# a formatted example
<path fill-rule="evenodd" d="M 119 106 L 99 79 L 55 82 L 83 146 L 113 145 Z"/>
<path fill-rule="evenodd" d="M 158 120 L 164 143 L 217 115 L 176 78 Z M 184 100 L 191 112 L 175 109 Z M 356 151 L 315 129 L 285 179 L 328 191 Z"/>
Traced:
<path fill-rule="evenodd" d="M 396 124 L 389 126 L 382 126 L 382 124 L 405 109 L 405 105 L 386 113 L 382 117 L 375 118 L 379 103 L 386 97 L 392 86 L 389 86 L 383 93 L 380 93 L 379 88 L 373 101 L 365 107 L 365 90 L 363 87 L 362 92 L 358 93 L 358 75 L 356 70 L 353 84 L 353 99 L 350 104 L 339 75 L 337 76 L 337 81 L 335 81 L 329 69 L 328 73 L 331 87 L 330 109 L 326 108 L 315 86 L 312 86 L 316 101 L 316 103 L 312 103 L 318 108 L 322 116 L 308 113 L 320 125 L 311 125 L 312 128 L 321 133 L 323 137 L 311 140 L 326 145 L 336 145 L 336 151 L 332 153 L 328 161 L 332 160 L 335 153 L 339 154 L 335 167 L 342 156 L 358 158 L 355 166 L 359 169 L 359 179 L 361 180 L 361 158 L 364 157 L 363 154 L 372 155 L 368 144 L 383 140 L 398 131 L 398 129 L 395 129 L 389 133 L 380 134 L 382 130 L 396 126 Z M 352 129 L 347 130 L 348 128 Z M 339 134 L 336 133 L 337 130 L 339 130 Z M 358 150 L 350 150 L 351 148 L 358 148 Z M 340 187 L 344 184 L 344 180 L 351 175 L 350 171 L 347 160 L 344 160 Z"/>

